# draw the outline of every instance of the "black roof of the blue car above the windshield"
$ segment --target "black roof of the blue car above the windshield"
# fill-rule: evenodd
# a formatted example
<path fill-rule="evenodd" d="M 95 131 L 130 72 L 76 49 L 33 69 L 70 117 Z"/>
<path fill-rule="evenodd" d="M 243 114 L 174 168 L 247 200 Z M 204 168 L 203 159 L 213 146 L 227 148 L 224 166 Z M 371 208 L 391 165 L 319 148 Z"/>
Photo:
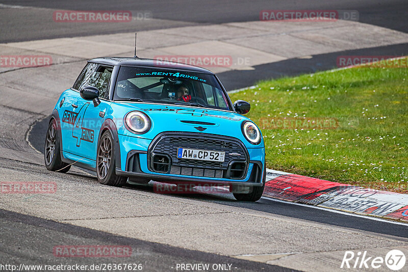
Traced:
<path fill-rule="evenodd" d="M 160 63 L 158 63 L 158 61 Z M 103 65 L 113 65 L 113 66 L 143 66 L 143 67 L 155 67 L 155 68 L 167 68 L 167 69 L 177 69 L 177 70 L 187 70 L 206 74 L 214 74 L 210 70 L 201 68 L 194 65 L 179 63 L 179 62 L 169 62 L 154 59 L 142 59 L 142 58 L 130 58 L 130 57 L 102 57 L 89 60 L 91 63 L 98 63 Z M 182 65 L 181 65 L 182 64 Z"/>

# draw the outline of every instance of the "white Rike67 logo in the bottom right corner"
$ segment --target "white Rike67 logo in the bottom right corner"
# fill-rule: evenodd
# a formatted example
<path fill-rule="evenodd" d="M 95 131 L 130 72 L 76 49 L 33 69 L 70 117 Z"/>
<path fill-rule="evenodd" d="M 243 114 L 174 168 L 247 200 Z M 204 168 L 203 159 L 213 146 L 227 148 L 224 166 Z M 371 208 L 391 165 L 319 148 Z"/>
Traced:
<path fill-rule="evenodd" d="M 346 251 L 344 253 L 343 261 L 340 268 L 380 268 L 384 264 L 391 270 L 400 270 L 405 265 L 405 254 L 400 250 L 391 250 L 387 253 L 386 257 L 373 257 L 368 256 L 367 251 L 358 252 L 354 254 L 352 251 Z"/>

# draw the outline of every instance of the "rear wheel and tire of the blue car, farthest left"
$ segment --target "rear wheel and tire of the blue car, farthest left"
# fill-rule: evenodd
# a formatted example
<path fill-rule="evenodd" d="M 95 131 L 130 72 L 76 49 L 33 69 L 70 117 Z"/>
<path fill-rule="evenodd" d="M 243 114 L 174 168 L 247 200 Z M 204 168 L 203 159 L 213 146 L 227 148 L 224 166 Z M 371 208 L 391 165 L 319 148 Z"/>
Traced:
<path fill-rule="evenodd" d="M 71 168 L 61 160 L 60 139 L 57 131 L 57 121 L 53 118 L 48 125 L 44 143 L 44 163 L 49 171 L 66 173 Z"/>

